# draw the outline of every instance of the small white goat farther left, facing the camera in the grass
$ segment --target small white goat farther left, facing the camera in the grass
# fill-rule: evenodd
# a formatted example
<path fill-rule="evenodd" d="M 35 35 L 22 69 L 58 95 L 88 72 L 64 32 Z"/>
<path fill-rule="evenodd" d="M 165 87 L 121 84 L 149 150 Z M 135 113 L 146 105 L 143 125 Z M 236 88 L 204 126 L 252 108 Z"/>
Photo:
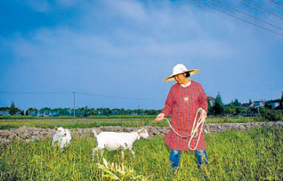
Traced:
<path fill-rule="evenodd" d="M 52 146 L 54 146 L 55 142 L 58 141 L 58 145 L 60 144 L 61 149 L 64 149 L 64 147 L 68 146 L 70 144 L 70 140 L 72 140 L 72 137 L 70 135 L 70 131 L 68 129 L 64 129 L 62 127 L 55 128 L 55 135 L 53 136 L 52 140 Z"/>

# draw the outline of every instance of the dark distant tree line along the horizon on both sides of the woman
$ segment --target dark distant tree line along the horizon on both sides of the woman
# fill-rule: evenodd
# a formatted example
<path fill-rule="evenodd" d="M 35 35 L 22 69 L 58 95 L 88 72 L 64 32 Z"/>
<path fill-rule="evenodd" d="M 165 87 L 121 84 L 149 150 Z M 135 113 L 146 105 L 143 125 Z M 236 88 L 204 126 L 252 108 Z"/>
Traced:
<path fill-rule="evenodd" d="M 272 106 L 269 105 L 267 101 L 264 105 L 264 109 L 271 110 Z M 282 107 L 283 95 L 280 99 L 280 106 Z M 251 100 L 250 100 L 251 103 Z M 241 106 L 241 102 L 238 99 L 231 100 L 229 104 L 223 104 L 222 98 L 219 93 L 215 97 L 215 102 L 211 105 L 211 102 L 208 100 L 208 115 L 214 116 L 227 116 L 227 115 L 260 115 L 260 111 L 263 108 L 250 106 L 244 108 Z M 12 102 L 12 105 L 9 107 L 1 107 L 0 115 L 30 115 L 30 116 L 61 116 L 61 115 L 76 115 L 77 117 L 88 117 L 90 115 L 157 115 L 161 110 L 155 109 L 124 109 L 124 108 L 28 108 L 28 110 L 23 111 L 17 108 Z"/>

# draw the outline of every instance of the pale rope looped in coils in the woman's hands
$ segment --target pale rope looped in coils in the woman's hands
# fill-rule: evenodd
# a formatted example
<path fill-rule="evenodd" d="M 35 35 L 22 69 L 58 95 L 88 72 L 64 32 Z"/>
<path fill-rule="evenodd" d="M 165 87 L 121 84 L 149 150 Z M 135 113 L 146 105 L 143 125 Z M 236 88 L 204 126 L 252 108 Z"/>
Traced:
<path fill-rule="evenodd" d="M 197 114 L 195 115 L 195 120 L 193 122 L 193 128 L 192 128 L 191 134 L 188 135 L 188 136 L 179 135 L 179 133 L 177 133 L 177 131 L 175 131 L 175 129 L 171 126 L 170 121 L 167 118 L 164 118 L 165 120 L 167 120 L 170 128 L 172 129 L 172 131 L 176 135 L 178 135 L 179 137 L 182 137 L 182 138 L 190 137 L 190 140 L 188 141 L 188 149 L 191 149 L 193 151 L 195 151 L 195 149 L 197 149 L 197 145 L 199 144 L 200 136 L 202 135 L 202 132 L 203 132 L 204 122 L 206 122 L 206 117 L 203 116 L 202 111 L 204 111 L 204 113 L 206 113 L 206 111 L 203 108 L 197 109 L 197 114 L 201 113 L 201 115 L 199 116 L 198 120 L 197 120 Z M 199 131 L 199 128 L 200 128 L 200 131 Z M 208 128 L 208 130 L 209 130 L 209 128 Z M 195 137 L 197 137 L 197 144 L 195 145 L 195 148 L 191 148 L 191 142 Z"/>

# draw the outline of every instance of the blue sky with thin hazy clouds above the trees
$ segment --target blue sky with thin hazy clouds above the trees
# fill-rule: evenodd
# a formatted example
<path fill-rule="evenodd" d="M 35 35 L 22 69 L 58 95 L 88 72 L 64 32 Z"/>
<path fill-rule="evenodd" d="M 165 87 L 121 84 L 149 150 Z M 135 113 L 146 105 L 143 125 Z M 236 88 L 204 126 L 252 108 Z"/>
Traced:
<path fill-rule="evenodd" d="M 273 26 L 213 1 L 234 17 L 193 1 L 1 1 L 0 106 L 72 108 L 75 92 L 76 107 L 161 109 L 180 63 L 224 104 L 278 99 L 283 9 L 248 1 L 279 17 L 218 0 Z"/>

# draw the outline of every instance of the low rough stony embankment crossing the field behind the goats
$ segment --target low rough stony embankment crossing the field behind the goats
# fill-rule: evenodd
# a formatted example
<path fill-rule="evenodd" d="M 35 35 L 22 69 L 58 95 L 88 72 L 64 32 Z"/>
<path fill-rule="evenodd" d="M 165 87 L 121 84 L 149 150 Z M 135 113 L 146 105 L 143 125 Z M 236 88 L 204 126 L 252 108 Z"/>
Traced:
<path fill-rule="evenodd" d="M 210 123 L 205 124 L 204 129 L 211 132 L 223 133 L 226 131 L 247 131 L 248 129 L 257 126 L 283 126 L 283 122 L 248 122 L 248 123 Z M 146 127 L 150 137 L 164 136 L 168 133 L 170 128 L 168 126 L 142 126 Z M 137 131 L 138 127 L 124 127 L 124 126 L 99 126 L 94 127 L 97 133 L 101 131 L 115 131 L 115 132 L 130 132 Z M 73 128 L 72 137 L 82 138 L 92 136 L 92 128 Z M 20 128 L 10 128 L 0 130 L 0 143 L 8 143 L 12 140 L 22 140 L 30 142 L 34 140 L 51 140 L 55 134 L 55 130 L 51 128 L 36 128 L 21 126 Z"/>

